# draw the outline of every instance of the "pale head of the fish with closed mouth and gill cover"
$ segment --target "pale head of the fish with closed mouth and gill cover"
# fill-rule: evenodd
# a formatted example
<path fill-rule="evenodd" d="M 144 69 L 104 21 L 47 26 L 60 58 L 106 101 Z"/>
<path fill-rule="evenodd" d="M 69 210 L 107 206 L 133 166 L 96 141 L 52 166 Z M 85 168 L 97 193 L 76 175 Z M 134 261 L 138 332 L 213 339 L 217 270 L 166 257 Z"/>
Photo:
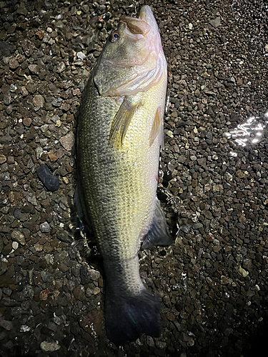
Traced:
<path fill-rule="evenodd" d="M 94 84 L 101 96 L 133 96 L 167 76 L 157 21 L 149 6 L 139 18 L 124 16 L 96 63 Z"/>

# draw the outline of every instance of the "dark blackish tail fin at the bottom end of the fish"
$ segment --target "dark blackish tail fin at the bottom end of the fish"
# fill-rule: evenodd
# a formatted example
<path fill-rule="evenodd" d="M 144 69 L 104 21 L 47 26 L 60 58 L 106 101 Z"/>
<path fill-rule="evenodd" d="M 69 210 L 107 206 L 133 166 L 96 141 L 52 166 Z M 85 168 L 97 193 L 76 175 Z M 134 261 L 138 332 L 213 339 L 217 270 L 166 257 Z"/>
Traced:
<path fill-rule="evenodd" d="M 160 298 L 146 288 L 136 296 L 111 295 L 106 291 L 106 336 L 117 346 L 134 341 L 142 333 L 159 336 Z"/>

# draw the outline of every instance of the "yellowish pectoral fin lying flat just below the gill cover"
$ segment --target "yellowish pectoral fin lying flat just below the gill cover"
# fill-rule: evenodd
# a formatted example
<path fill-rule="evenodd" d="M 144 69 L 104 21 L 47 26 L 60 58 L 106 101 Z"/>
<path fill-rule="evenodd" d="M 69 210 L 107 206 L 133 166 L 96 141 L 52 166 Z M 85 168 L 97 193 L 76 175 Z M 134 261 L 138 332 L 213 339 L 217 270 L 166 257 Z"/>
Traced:
<path fill-rule="evenodd" d="M 124 142 L 126 131 L 129 127 L 131 119 L 138 107 L 138 104 L 131 104 L 131 101 L 126 97 L 117 111 L 114 120 L 111 122 L 109 133 L 109 145 L 120 147 Z"/>

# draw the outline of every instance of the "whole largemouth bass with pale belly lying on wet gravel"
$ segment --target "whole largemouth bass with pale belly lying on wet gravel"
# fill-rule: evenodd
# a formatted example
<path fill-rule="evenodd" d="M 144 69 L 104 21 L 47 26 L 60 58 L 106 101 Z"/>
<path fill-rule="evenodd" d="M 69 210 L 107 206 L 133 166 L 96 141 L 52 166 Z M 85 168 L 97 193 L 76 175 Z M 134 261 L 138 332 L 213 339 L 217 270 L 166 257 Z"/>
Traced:
<path fill-rule="evenodd" d="M 116 345 L 159 336 L 161 300 L 139 275 L 138 253 L 169 245 L 157 199 L 167 61 L 149 6 L 123 16 L 91 71 L 76 134 L 76 206 L 104 266 L 106 336 Z"/>

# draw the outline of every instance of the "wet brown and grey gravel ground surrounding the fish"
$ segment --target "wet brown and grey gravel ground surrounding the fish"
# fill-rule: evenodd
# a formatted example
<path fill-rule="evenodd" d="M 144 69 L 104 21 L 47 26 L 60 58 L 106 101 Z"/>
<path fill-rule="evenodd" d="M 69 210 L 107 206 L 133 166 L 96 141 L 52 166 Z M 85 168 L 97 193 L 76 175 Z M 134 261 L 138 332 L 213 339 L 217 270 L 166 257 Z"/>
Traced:
<path fill-rule="evenodd" d="M 257 356 L 268 325 L 268 7 L 252 3 L 151 4 L 169 71 L 159 198 L 175 241 L 140 253 L 162 297 L 162 336 L 116 348 L 99 256 L 76 230 L 74 134 L 107 34 L 150 3 L 0 1 L 1 357 Z"/>

